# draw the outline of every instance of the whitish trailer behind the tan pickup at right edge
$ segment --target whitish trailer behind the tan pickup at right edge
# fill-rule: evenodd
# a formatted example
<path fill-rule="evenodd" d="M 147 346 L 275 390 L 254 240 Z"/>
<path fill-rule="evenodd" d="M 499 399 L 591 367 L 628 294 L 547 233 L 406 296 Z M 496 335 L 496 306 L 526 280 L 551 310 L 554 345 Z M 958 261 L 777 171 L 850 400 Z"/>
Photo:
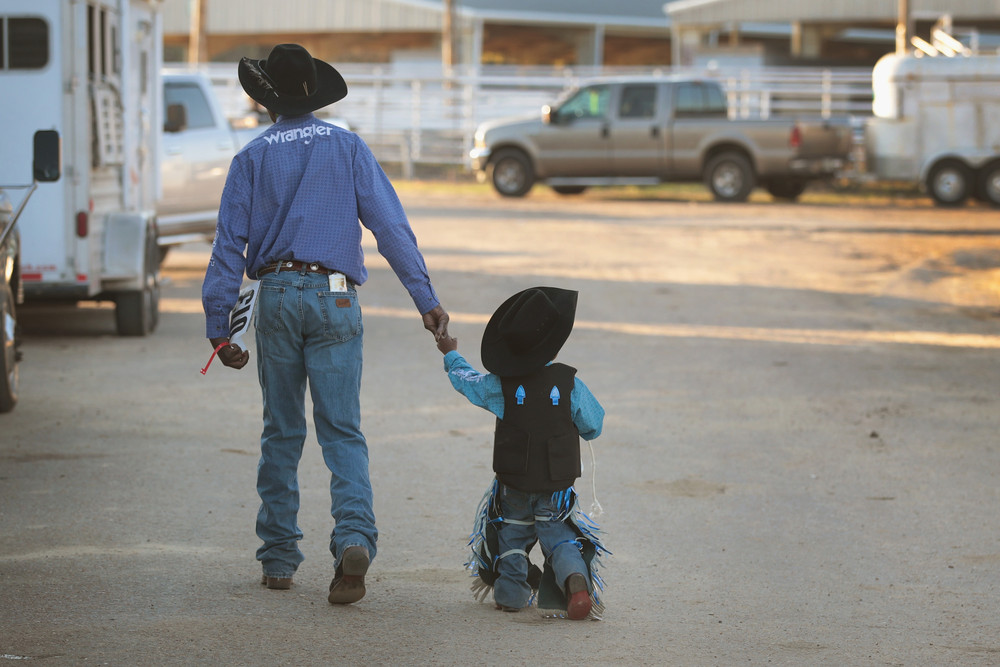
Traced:
<path fill-rule="evenodd" d="M 1000 206 L 1000 55 L 883 56 L 872 71 L 868 168 L 940 206 Z"/>

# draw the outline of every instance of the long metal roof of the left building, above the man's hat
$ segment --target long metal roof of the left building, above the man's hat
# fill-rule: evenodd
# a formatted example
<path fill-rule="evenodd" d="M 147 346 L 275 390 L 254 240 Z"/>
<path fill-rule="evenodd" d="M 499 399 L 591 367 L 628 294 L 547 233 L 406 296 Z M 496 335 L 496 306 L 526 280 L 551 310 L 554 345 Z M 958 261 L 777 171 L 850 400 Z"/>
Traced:
<path fill-rule="evenodd" d="M 671 0 L 668 0 L 668 4 Z M 672 0 L 677 1 L 677 0 Z M 208 31 L 426 31 L 441 29 L 444 0 L 207 0 Z M 187 0 L 163 3 L 168 34 L 186 33 Z M 664 28 L 663 0 L 454 0 L 463 18 L 505 23 Z"/>

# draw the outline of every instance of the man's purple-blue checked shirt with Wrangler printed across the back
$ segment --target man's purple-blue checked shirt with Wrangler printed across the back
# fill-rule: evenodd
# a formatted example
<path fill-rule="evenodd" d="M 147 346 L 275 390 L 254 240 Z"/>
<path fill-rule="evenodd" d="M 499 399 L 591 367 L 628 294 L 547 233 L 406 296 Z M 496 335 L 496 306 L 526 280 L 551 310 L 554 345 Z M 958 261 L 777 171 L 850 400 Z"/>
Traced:
<path fill-rule="evenodd" d="M 359 220 L 417 310 L 436 307 L 403 206 L 365 142 L 313 114 L 279 118 L 229 167 L 202 286 L 207 337 L 229 335 L 243 274 L 255 278 L 268 264 L 318 262 L 364 284 Z"/>

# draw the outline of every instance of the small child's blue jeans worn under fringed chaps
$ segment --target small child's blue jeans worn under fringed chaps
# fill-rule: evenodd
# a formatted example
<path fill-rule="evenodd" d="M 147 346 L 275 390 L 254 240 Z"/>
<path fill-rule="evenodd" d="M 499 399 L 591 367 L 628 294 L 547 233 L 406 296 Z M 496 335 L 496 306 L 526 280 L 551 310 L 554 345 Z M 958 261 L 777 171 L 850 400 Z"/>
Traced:
<path fill-rule="evenodd" d="M 505 484 L 500 485 L 499 494 L 500 515 L 504 520 L 497 530 L 500 576 L 493 584 L 493 599 L 497 604 L 515 609 L 527 606 L 531 599 L 528 558 L 520 552 L 527 551 L 536 538 L 542 555 L 552 566 L 559 588 L 564 589 L 566 577 L 571 574 L 579 573 L 590 580 L 580 544 L 576 541 L 578 535 L 565 520 L 559 520 L 559 507 L 552 501 L 553 494 L 526 493 Z M 508 523 L 512 520 L 530 525 Z"/>

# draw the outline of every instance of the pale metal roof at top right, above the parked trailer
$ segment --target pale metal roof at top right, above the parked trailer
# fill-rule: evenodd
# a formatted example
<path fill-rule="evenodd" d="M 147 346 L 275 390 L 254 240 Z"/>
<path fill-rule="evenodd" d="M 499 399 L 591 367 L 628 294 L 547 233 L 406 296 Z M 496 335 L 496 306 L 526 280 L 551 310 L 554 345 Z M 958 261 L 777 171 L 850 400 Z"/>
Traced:
<path fill-rule="evenodd" d="M 741 21 L 895 21 L 898 0 L 677 0 L 666 7 L 676 23 Z M 915 17 L 1000 18 L 1000 0 L 910 0 Z"/>

